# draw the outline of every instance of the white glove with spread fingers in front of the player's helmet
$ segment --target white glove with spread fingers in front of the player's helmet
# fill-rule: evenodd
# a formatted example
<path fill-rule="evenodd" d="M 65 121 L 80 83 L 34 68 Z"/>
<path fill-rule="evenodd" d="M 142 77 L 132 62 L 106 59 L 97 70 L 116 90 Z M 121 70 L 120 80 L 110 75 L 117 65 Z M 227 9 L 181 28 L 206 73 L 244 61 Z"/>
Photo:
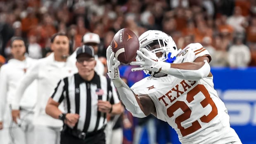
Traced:
<path fill-rule="evenodd" d="M 171 64 L 158 61 L 158 58 L 156 55 L 152 52 L 149 52 L 146 48 L 142 48 L 137 50 L 137 55 L 141 57 L 142 61 L 133 61 L 130 63 L 130 65 L 140 66 L 137 68 L 132 68 L 131 71 L 142 71 L 142 70 L 149 70 L 158 72 L 161 71 L 161 69 L 168 69 L 171 68 Z"/>

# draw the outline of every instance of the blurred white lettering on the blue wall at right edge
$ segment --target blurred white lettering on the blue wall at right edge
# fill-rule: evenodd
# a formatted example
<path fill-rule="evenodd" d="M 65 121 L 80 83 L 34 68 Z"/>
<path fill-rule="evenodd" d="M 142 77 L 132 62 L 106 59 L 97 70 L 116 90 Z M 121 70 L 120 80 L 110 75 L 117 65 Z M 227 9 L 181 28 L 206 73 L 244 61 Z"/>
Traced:
<path fill-rule="evenodd" d="M 256 90 L 218 90 L 230 116 L 230 125 L 256 126 Z"/>

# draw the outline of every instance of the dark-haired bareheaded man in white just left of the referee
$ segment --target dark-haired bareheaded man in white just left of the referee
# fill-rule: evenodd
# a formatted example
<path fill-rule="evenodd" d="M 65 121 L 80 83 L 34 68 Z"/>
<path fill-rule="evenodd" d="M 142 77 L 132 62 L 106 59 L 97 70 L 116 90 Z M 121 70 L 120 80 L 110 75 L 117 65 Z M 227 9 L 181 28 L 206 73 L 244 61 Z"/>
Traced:
<path fill-rule="evenodd" d="M 69 58 L 69 38 L 64 33 L 56 33 L 51 38 L 51 50 L 48 57 L 38 60 L 29 73 L 21 80 L 12 102 L 12 118 L 17 123 L 19 102 L 26 87 L 33 80 L 38 80 L 38 99 L 35 108 L 35 142 L 34 144 L 59 144 L 60 128 L 63 123 L 45 113 L 45 106 L 54 87 L 61 78 L 77 72 L 76 66 Z"/>

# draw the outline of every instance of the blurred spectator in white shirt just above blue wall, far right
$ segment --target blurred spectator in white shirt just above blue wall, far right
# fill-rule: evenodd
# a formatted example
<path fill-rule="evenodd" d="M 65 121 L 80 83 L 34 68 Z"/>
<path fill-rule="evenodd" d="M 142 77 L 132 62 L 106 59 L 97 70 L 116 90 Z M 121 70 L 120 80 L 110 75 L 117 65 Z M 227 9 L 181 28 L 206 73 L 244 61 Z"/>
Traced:
<path fill-rule="evenodd" d="M 251 61 L 250 49 L 243 44 L 243 36 L 237 34 L 234 38 L 234 45 L 228 50 L 228 63 L 230 67 L 247 67 Z"/>

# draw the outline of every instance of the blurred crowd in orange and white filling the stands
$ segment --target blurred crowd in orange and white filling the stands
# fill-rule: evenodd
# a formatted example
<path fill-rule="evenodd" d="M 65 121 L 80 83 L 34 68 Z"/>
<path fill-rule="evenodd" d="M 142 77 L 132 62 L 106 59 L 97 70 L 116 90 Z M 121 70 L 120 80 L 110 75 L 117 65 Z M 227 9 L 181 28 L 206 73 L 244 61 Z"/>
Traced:
<path fill-rule="evenodd" d="M 1 0 L 0 54 L 11 58 L 12 36 L 25 38 L 29 56 L 40 59 L 52 34 L 67 33 L 74 50 L 92 32 L 100 35 L 98 55 L 105 57 L 124 27 L 137 36 L 164 31 L 179 48 L 200 42 L 213 57 L 211 66 L 256 66 L 255 0 Z"/>

